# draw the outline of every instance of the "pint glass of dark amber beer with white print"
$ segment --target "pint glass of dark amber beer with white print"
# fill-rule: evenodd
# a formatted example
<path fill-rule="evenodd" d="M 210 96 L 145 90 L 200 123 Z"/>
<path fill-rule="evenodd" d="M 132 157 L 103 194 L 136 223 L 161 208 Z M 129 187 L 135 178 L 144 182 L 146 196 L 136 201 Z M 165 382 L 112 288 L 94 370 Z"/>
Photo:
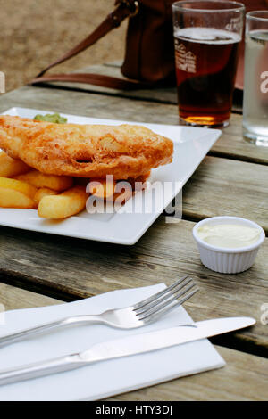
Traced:
<path fill-rule="evenodd" d="M 229 124 L 244 4 L 223 0 L 172 4 L 180 120 Z"/>

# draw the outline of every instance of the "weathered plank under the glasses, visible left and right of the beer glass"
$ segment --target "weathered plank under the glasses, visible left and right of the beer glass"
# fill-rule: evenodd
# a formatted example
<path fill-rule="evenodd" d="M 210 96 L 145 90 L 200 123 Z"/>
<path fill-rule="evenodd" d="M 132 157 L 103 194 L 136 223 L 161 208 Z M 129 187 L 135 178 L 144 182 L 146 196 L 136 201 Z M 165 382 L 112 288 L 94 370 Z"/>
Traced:
<path fill-rule="evenodd" d="M 24 86 L 0 98 L 0 111 L 13 106 L 98 118 L 179 124 L 177 105 L 54 88 Z M 255 147 L 244 141 L 241 136 L 241 124 L 241 116 L 232 114 L 230 127 L 222 130 L 222 137 L 214 144 L 211 153 L 237 160 L 268 164 L 268 148 Z"/>

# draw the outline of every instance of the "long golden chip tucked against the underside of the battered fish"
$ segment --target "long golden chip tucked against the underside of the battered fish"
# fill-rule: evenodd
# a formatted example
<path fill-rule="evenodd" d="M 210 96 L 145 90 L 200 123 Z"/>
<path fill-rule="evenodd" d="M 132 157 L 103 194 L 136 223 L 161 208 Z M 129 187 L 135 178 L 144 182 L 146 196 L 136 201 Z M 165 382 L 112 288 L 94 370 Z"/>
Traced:
<path fill-rule="evenodd" d="M 49 188 L 57 192 L 66 191 L 73 184 L 72 177 L 45 175 L 44 173 L 38 172 L 38 170 L 32 170 L 25 175 L 20 175 L 15 178 L 36 186 L 38 189 Z"/>

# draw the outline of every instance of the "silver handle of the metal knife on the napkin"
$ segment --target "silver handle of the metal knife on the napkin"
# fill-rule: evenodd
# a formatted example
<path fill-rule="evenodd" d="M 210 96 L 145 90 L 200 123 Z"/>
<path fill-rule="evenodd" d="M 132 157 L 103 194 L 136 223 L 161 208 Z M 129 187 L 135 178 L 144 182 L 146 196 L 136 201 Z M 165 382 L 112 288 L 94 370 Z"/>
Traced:
<path fill-rule="evenodd" d="M 0 385 L 10 384 L 12 382 L 21 382 L 31 378 L 42 377 L 47 374 L 60 373 L 87 365 L 79 354 L 69 355 L 67 357 L 58 357 L 50 361 L 42 361 L 27 366 L 13 367 L 11 369 L 0 371 Z"/>

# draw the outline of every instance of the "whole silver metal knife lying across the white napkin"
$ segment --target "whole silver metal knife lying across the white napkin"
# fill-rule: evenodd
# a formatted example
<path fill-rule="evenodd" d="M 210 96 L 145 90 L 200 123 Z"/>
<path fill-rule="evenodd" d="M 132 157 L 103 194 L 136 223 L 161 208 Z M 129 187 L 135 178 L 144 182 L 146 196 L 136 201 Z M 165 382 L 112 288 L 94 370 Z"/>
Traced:
<path fill-rule="evenodd" d="M 178 325 L 151 333 L 140 333 L 114 341 L 105 341 L 78 354 L 0 371 L 0 385 L 69 371 L 107 359 L 130 357 L 158 349 L 171 348 L 182 343 L 199 341 L 251 325 L 255 325 L 255 319 L 251 317 L 225 317 L 189 325 Z"/>

